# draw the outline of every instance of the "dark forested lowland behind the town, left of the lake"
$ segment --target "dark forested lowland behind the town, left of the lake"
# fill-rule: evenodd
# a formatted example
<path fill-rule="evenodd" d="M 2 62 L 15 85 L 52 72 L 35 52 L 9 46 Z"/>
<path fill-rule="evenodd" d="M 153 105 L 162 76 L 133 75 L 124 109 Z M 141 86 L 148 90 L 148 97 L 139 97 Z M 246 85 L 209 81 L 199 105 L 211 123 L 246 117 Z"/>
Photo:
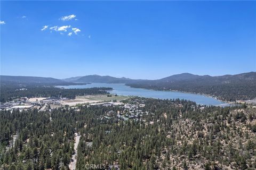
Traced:
<path fill-rule="evenodd" d="M 53 86 L 44 86 L 42 84 L 4 84 L 1 83 L 1 102 L 20 97 L 66 97 L 74 99 L 76 96 L 107 94 L 107 90 L 112 88 L 86 88 L 86 89 L 61 89 Z"/>

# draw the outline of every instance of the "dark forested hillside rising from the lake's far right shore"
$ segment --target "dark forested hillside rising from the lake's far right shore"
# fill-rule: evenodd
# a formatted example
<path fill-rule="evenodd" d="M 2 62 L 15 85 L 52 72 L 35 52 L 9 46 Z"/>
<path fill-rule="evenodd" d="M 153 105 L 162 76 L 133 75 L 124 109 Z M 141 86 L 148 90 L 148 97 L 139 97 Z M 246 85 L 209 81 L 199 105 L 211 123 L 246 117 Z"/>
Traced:
<path fill-rule="evenodd" d="M 159 80 L 127 83 L 126 85 L 135 88 L 206 94 L 225 101 L 256 98 L 256 72 L 218 77 L 183 73 Z"/>

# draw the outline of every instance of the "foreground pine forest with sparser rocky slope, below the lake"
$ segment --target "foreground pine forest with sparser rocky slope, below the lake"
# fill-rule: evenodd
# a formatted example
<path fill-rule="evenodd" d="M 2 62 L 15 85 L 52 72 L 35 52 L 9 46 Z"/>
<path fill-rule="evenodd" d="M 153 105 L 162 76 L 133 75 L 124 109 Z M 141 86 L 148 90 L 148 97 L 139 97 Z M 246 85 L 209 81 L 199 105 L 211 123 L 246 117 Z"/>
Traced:
<path fill-rule="evenodd" d="M 256 168 L 256 108 L 251 105 L 222 108 L 147 98 L 123 102 L 138 104 L 145 114 L 120 120 L 117 114 L 129 112 L 124 106 L 103 105 L 1 111 L 1 168 L 68 169 L 75 132 L 81 135 L 76 163 L 81 170 L 87 164 L 120 169 Z"/>

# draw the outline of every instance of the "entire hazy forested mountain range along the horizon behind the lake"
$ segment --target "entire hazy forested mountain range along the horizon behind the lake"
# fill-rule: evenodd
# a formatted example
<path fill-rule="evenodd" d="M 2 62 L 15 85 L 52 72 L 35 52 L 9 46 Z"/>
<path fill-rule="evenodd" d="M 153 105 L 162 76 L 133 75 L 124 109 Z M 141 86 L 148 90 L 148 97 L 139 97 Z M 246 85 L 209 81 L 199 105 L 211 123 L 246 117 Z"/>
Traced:
<path fill-rule="evenodd" d="M 177 90 L 217 97 L 221 100 L 252 99 L 256 97 L 256 72 L 235 75 L 194 75 L 182 73 L 158 80 L 115 78 L 86 75 L 67 79 L 1 75 L 1 83 L 69 85 L 80 83 L 125 83 L 134 88 Z"/>

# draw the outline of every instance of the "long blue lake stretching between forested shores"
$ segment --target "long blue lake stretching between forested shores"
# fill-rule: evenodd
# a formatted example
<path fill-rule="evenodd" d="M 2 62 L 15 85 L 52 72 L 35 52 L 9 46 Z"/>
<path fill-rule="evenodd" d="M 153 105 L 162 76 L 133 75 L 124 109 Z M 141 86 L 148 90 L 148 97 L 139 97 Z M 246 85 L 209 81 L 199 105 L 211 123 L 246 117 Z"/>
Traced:
<path fill-rule="evenodd" d="M 203 105 L 221 105 L 225 104 L 224 102 L 217 100 L 212 97 L 207 97 L 204 95 L 189 94 L 185 92 L 176 92 L 176 91 L 156 91 L 148 90 L 141 88 L 132 88 L 125 86 L 124 84 L 108 84 L 108 83 L 91 83 L 86 85 L 74 85 L 74 86 L 57 86 L 59 88 L 66 89 L 82 89 L 82 88 L 92 88 L 92 87 L 111 87 L 113 90 L 110 90 L 110 94 L 117 94 L 123 96 L 141 96 L 148 98 L 159 98 L 159 99 L 186 99 L 195 101 L 197 104 Z"/>

